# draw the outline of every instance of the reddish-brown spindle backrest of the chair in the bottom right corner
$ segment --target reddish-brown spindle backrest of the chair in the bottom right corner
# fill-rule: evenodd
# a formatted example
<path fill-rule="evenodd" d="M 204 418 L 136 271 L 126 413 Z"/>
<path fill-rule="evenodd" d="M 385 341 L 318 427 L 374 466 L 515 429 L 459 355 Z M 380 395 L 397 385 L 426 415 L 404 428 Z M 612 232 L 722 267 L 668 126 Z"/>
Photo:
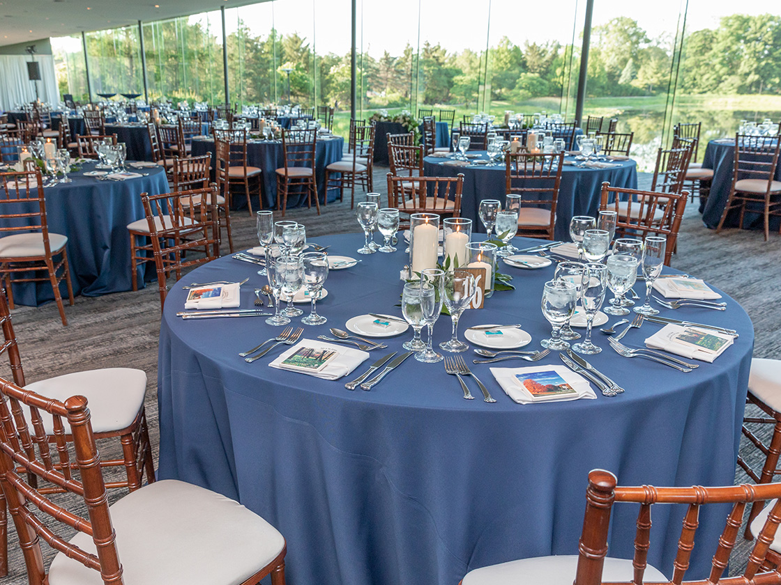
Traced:
<path fill-rule="evenodd" d="M 609 471 L 594 470 L 589 473 L 586 490 L 586 513 L 583 518 L 583 532 L 580 534 L 577 572 L 574 585 L 601 585 L 604 558 L 608 552 L 608 532 L 610 516 L 616 504 L 639 504 L 637 512 L 637 530 L 634 537 L 633 581 L 643 583 L 647 568 L 648 549 L 651 545 L 651 508 L 654 505 L 684 505 L 686 512 L 678 541 L 678 551 L 673 562 L 672 583 L 720 583 L 738 585 L 738 583 L 781 583 L 781 573 L 776 567 L 768 569 L 762 566 L 769 554 L 769 545 L 776 535 L 781 519 L 781 501 L 776 502 L 768 521 L 756 538 L 748 563 L 740 576 L 723 576 L 729 562 L 729 554 L 735 546 L 740 520 L 746 505 L 751 502 L 779 498 L 781 484 L 736 485 L 723 488 L 656 488 L 650 485 L 637 487 L 617 487 L 615 476 Z M 727 516 L 726 526 L 717 543 L 705 543 L 714 547 L 715 555 L 711 564 L 708 580 L 685 581 L 686 569 L 692 549 L 695 545 L 698 518 L 701 507 L 711 504 L 733 504 Z M 697 544 L 700 544 L 697 542 Z M 666 573 L 665 567 L 657 567 Z M 757 580 L 755 576 L 761 574 Z M 723 578 L 722 578 L 723 576 Z"/>

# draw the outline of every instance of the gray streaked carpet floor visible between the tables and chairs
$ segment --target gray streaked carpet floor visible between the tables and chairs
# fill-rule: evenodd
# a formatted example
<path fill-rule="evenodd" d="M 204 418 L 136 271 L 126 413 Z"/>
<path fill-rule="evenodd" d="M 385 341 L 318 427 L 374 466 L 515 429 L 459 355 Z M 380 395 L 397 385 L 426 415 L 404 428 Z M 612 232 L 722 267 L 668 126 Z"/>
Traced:
<path fill-rule="evenodd" d="M 386 173 L 387 168 L 375 168 L 375 189 L 383 194 L 387 193 Z M 650 178 L 641 176 L 641 188 L 649 185 Z M 362 200 L 362 194 L 356 194 L 356 200 Z M 687 207 L 673 268 L 704 278 L 744 307 L 754 323 L 754 356 L 781 355 L 781 312 L 777 310 L 781 300 L 781 276 L 777 269 L 781 235 L 771 234 L 767 243 L 761 232 L 733 229 L 717 235 L 704 228 L 694 204 Z M 301 208 L 287 211 L 286 217 L 305 224 L 310 239 L 359 231 L 349 196 L 342 203 L 328 204 L 322 215 L 316 215 L 314 208 Z M 255 246 L 254 218 L 247 211 L 234 211 L 231 219 L 236 249 Z M 223 254 L 226 252 L 223 250 Z M 77 297 L 75 306 L 66 306 L 68 327 L 62 327 L 53 303 L 43 307 L 16 307 L 12 318 L 27 381 L 98 367 L 126 366 L 146 371 L 146 409 L 156 449 L 159 442 L 156 402 L 159 310 L 156 284 L 137 293 Z M 7 362 L 0 364 L 0 376 L 10 376 Z M 116 452 L 117 445 L 118 441 L 102 445 L 102 452 Z M 747 445 L 743 445 L 742 450 L 747 459 L 758 460 Z M 736 470 L 736 482 L 745 480 L 742 470 Z M 122 491 L 115 490 L 110 497 L 113 500 L 121 495 Z M 44 552 L 48 566 L 52 551 L 44 547 Z M 731 573 L 745 565 L 748 553 L 747 545 L 740 543 L 733 552 Z M 12 526 L 9 527 L 9 576 L 3 582 L 9 585 L 27 583 L 16 530 Z"/>

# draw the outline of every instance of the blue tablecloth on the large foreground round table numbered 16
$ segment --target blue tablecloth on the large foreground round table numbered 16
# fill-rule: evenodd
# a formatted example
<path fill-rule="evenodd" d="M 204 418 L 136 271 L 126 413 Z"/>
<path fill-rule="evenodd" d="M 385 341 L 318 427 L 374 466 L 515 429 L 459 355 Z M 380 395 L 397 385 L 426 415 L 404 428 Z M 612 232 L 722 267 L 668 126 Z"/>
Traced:
<path fill-rule="evenodd" d="M 394 305 L 398 270 L 408 262 L 404 240 L 394 254 L 358 256 L 361 240 L 357 234 L 319 239 L 331 244 L 332 254 L 362 262 L 331 271 L 329 295 L 318 303 L 329 322 L 305 327 L 306 338 L 344 328 L 357 314 L 401 314 Z M 516 245 L 530 241 L 516 239 Z M 251 289 L 265 283 L 255 268 L 227 257 L 183 282 L 248 277 L 241 306 L 251 307 Z M 495 293 L 483 310 L 467 311 L 461 329 L 522 322 L 533 338 L 527 349 L 539 348 L 550 333 L 540 291 L 553 268 L 505 265 L 503 271 L 514 276 L 515 292 Z M 597 467 L 612 470 L 621 484 L 733 482 L 753 330 L 732 300 L 724 313 L 686 312 L 740 332 L 715 363 L 683 374 L 605 349 L 589 359 L 624 385 L 624 394 L 523 406 L 508 399 L 487 365 L 473 371 L 495 404 L 462 399 L 441 363 L 413 358 L 371 392 L 344 388 L 380 356 L 402 351 L 411 331 L 387 339 L 389 349 L 373 351 L 338 381 L 268 367 L 280 350 L 245 363 L 237 354 L 280 328 L 256 317 L 180 321 L 175 312 L 184 299 L 181 286 L 173 286 L 162 315 L 159 477 L 219 491 L 268 519 L 287 539 L 291 582 L 453 585 L 469 569 L 491 563 L 576 554 L 587 473 Z M 624 341 L 639 346 L 657 330 L 644 324 Z M 440 317 L 434 342 L 449 334 L 448 318 Z M 540 363 L 560 362 L 554 353 Z M 648 560 L 665 573 L 672 568 L 678 512 L 654 511 L 656 546 Z M 611 555 L 631 558 L 634 513 L 615 511 Z M 702 516 L 698 541 L 715 542 L 726 513 L 711 509 Z M 695 548 L 693 572 L 704 577 L 711 555 L 710 548 Z"/>

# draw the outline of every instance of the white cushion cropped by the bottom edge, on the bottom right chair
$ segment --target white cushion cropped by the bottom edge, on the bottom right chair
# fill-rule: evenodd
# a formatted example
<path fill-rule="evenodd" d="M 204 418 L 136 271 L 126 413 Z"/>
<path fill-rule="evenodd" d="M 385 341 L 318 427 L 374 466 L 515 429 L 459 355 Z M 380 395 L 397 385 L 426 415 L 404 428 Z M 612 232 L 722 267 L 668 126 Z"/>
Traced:
<path fill-rule="evenodd" d="M 572 585 L 578 567 L 578 555 L 522 558 L 500 565 L 469 571 L 462 585 Z M 632 561 L 626 558 L 606 557 L 602 569 L 603 581 L 631 581 Z M 667 578 L 647 566 L 644 581 L 667 582 Z"/>

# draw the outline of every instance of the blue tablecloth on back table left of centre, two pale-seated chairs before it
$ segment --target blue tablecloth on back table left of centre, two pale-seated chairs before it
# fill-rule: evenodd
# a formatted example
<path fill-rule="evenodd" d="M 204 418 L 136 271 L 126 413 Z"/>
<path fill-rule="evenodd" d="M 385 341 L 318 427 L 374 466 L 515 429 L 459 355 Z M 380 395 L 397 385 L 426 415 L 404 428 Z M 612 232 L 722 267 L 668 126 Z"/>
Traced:
<path fill-rule="evenodd" d="M 344 138 L 333 137 L 329 140 L 319 138 L 315 145 L 315 178 L 317 182 L 317 193 L 322 203 L 326 193 L 326 166 L 332 162 L 341 161 L 342 149 L 344 148 Z M 192 155 L 201 156 L 201 154 L 211 154 L 214 160 L 214 140 L 193 140 Z M 276 206 L 276 169 L 285 165 L 284 151 L 282 150 L 281 140 L 259 140 L 248 141 L 247 143 L 247 164 L 252 167 L 258 167 L 262 170 L 261 183 L 263 193 L 264 209 Z M 213 168 L 213 165 L 212 165 Z M 212 170 L 213 178 L 213 170 Z M 331 190 L 329 201 L 336 200 L 338 190 Z M 306 203 L 306 198 L 288 197 L 287 207 L 298 207 Z M 234 197 L 232 204 L 235 208 L 241 209 L 247 207 L 246 197 Z"/>

